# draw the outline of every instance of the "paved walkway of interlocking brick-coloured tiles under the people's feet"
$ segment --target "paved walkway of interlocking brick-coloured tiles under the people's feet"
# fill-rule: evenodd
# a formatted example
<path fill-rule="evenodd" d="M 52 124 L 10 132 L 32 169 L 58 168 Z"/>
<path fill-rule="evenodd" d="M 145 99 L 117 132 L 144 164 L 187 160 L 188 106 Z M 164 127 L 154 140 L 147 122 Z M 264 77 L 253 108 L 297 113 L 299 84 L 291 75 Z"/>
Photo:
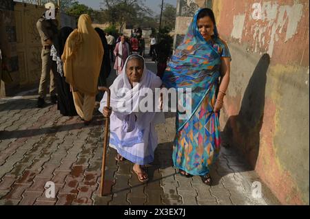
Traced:
<path fill-rule="evenodd" d="M 138 181 L 130 162 L 116 162 L 111 149 L 105 176 L 110 194 L 99 197 L 103 116 L 96 113 L 85 127 L 78 117 L 62 117 L 56 106 L 36 108 L 36 93 L 0 100 L 0 205 L 278 204 L 264 185 L 262 198 L 253 198 L 251 185 L 260 179 L 228 148 L 222 148 L 211 172 L 211 187 L 198 176 L 180 176 L 172 167 L 172 113 L 156 127 L 159 145 L 154 163 L 147 166 L 149 183 Z M 55 198 L 45 197 L 48 181 L 55 183 Z"/>

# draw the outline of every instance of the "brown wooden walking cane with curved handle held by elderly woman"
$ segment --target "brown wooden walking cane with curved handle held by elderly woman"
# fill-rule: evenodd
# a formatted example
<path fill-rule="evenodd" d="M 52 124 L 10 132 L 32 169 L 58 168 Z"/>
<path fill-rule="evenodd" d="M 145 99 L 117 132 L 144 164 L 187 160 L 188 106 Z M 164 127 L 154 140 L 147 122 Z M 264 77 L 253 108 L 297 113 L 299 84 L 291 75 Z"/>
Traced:
<path fill-rule="evenodd" d="M 110 98 L 111 91 L 107 87 L 99 87 L 99 91 L 107 92 L 107 108 L 110 108 Z M 107 156 L 107 137 L 109 135 L 109 125 L 110 125 L 110 116 L 105 118 L 105 133 L 104 133 L 104 141 L 103 141 L 103 159 L 102 159 L 102 167 L 101 167 L 101 183 L 100 183 L 100 196 L 103 196 L 103 189 L 105 186 L 105 160 Z"/>

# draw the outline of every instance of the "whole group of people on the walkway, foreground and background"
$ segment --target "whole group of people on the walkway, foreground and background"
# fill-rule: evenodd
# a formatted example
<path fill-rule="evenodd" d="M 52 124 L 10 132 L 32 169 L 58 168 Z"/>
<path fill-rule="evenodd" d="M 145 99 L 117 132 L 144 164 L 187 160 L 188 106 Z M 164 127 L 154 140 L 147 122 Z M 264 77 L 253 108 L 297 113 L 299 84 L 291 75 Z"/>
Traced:
<path fill-rule="evenodd" d="M 196 12 L 183 43 L 171 58 L 169 43 L 157 43 L 152 36 L 149 55 L 153 55 L 155 45 L 160 48 L 156 51 L 157 73 L 147 69 L 141 54 L 132 54 L 125 36 L 115 40 L 111 34 L 94 29 L 87 14 L 79 17 L 75 30 L 63 27 L 57 32 L 56 23 L 44 16 L 37 27 L 43 45 L 38 106 L 44 104 L 49 75 L 51 100 L 57 102 L 61 114 L 79 115 L 89 125 L 95 102 L 100 101 L 99 111 L 111 118 L 110 147 L 118 152 L 115 159 L 134 163 L 133 170 L 141 182 L 149 179 L 143 165 L 154 161 L 158 144 L 155 125 L 164 117 L 163 113 L 138 111 L 141 91 L 191 88 L 192 106 L 186 107 L 194 111 L 188 119 L 176 114 L 172 157 L 182 176 L 200 176 L 203 183 L 210 185 L 210 168 L 220 151 L 219 113 L 229 86 L 231 62 L 212 10 Z M 141 35 L 141 30 L 134 30 L 131 37 Z M 111 107 L 107 108 L 107 93 L 99 93 L 98 87 L 107 86 L 113 61 L 117 78 L 110 87 Z M 124 95 L 118 95 L 121 89 L 126 89 Z M 131 103 L 130 107 L 124 111 L 121 102 Z M 161 100 L 161 108 L 163 104 Z"/>

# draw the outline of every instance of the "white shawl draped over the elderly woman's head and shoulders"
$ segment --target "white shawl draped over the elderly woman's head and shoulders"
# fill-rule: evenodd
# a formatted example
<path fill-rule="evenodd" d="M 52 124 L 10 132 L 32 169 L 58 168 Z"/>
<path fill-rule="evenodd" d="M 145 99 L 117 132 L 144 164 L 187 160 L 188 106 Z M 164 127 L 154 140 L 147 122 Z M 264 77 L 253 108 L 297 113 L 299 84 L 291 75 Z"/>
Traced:
<path fill-rule="evenodd" d="M 127 62 L 132 56 L 140 57 L 143 60 L 144 65 L 141 80 L 138 84 L 134 84 L 134 88 L 132 88 L 126 73 Z M 110 106 L 112 107 L 113 113 L 116 114 L 118 118 L 125 121 L 126 127 L 124 127 L 124 130 L 132 130 L 132 127 L 135 126 L 134 123 L 138 124 L 138 126 L 149 126 L 149 123 L 152 122 L 157 115 L 154 111 L 146 113 L 139 112 L 139 103 L 145 98 L 146 91 L 150 91 L 151 89 L 154 93 L 155 88 L 161 87 L 161 84 L 161 78 L 147 69 L 145 60 L 142 56 L 134 54 L 127 58 L 123 68 L 123 73 L 114 80 L 114 83 L 110 87 Z M 103 113 L 103 108 L 105 106 L 107 106 L 107 93 L 105 93 L 101 100 L 99 108 L 101 113 Z M 163 117 L 163 113 L 161 114 L 161 117 Z"/>

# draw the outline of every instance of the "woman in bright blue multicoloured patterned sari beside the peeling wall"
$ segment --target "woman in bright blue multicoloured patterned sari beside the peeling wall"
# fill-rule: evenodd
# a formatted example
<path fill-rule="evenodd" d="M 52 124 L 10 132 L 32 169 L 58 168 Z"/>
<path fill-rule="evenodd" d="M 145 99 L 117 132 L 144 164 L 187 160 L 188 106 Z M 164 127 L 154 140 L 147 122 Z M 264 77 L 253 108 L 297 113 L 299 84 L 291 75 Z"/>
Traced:
<path fill-rule="evenodd" d="M 192 105 L 185 107 L 192 113 L 186 119 L 180 119 L 179 111 L 176 115 L 174 165 L 182 176 L 200 176 L 207 185 L 211 185 L 210 168 L 220 152 L 219 115 L 229 85 L 230 62 L 214 13 L 203 8 L 196 12 L 163 76 L 167 88 L 192 89 Z"/>

